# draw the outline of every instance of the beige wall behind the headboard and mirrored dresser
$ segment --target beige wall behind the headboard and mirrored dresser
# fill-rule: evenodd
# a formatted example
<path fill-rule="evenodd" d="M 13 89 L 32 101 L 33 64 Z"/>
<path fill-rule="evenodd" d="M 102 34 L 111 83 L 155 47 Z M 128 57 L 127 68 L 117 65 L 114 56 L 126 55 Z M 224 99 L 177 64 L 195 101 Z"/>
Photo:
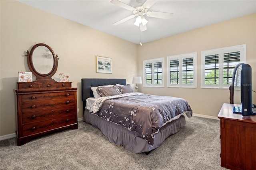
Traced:
<path fill-rule="evenodd" d="M 81 118 L 81 78 L 124 78 L 132 83 L 137 74 L 137 45 L 60 18 L 16 1 L 0 1 L 0 136 L 12 134 L 18 71 L 30 71 L 24 56 L 37 43 L 58 54 L 59 73 L 69 73 L 78 87 L 78 118 Z M 112 74 L 96 73 L 96 55 L 112 58 Z"/>

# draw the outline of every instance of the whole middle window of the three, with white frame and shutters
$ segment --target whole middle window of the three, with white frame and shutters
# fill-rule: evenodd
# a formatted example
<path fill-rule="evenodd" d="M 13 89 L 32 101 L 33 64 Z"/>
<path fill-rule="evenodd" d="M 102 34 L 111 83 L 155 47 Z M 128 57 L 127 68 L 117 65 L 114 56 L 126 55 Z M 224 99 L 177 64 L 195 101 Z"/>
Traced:
<path fill-rule="evenodd" d="M 167 87 L 196 88 L 197 53 L 167 57 Z"/>

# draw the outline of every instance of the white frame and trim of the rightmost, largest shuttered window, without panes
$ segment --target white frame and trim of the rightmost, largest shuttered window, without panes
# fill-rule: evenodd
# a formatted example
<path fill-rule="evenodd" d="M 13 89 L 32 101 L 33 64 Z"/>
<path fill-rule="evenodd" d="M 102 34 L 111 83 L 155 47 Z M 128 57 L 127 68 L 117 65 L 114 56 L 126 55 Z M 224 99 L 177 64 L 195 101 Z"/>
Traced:
<path fill-rule="evenodd" d="M 240 52 L 240 63 L 246 63 L 246 44 L 201 51 L 201 88 L 203 88 L 203 89 L 228 89 L 229 88 L 230 85 L 223 84 L 223 74 L 222 73 L 223 73 L 224 53 L 231 52 L 231 51 L 241 51 Z M 220 73 L 219 74 L 219 84 L 206 85 L 206 84 L 204 84 L 205 56 L 212 55 L 212 54 L 219 54 L 219 73 Z"/>

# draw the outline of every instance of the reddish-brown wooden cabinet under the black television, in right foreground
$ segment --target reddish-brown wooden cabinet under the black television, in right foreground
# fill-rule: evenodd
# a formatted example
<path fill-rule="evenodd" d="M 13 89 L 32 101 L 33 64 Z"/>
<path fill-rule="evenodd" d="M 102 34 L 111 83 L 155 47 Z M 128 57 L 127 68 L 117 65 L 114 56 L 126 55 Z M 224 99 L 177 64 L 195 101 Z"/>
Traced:
<path fill-rule="evenodd" d="M 233 113 L 233 107 L 224 103 L 220 118 L 221 166 L 232 170 L 255 170 L 256 115 Z"/>

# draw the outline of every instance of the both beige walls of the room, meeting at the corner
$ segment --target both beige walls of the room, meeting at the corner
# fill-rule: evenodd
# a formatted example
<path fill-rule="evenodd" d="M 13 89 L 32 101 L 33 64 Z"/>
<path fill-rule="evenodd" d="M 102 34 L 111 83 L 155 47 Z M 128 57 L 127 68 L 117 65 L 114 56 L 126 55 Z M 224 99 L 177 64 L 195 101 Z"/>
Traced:
<path fill-rule="evenodd" d="M 166 59 L 170 55 L 194 51 L 198 56 L 196 89 L 139 85 L 139 90 L 182 97 L 188 100 L 194 113 L 216 117 L 222 103 L 229 102 L 229 92 L 200 88 L 200 52 L 232 45 L 246 44 L 247 63 L 252 66 L 253 89 L 256 90 L 256 14 L 144 43 L 143 46 L 16 1 L 0 1 L 0 17 L 0 136 L 16 130 L 14 89 L 18 71 L 29 71 L 24 54 L 36 43 L 46 43 L 60 58 L 53 78 L 58 81 L 59 73 L 69 73 L 73 87 L 78 87 L 78 118 L 83 115 L 81 78 L 124 78 L 127 83 L 132 83 L 132 76 L 142 76 L 143 60 Z M 112 74 L 96 73 L 96 55 L 113 59 Z"/>

